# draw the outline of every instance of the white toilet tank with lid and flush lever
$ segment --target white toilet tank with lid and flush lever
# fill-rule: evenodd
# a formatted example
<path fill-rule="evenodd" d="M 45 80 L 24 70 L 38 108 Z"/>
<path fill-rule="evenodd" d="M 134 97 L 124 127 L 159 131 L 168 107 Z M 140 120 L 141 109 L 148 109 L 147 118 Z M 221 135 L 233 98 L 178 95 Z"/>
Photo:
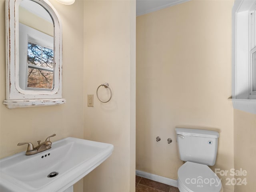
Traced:
<path fill-rule="evenodd" d="M 213 166 L 218 150 L 216 131 L 175 128 L 180 159 Z"/>

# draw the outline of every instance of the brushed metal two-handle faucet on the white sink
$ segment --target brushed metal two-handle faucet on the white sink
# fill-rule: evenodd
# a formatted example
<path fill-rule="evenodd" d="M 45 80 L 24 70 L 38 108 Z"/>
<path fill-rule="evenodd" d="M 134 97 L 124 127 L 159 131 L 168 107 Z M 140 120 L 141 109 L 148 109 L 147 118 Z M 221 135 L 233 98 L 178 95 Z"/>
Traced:
<path fill-rule="evenodd" d="M 30 142 L 18 143 L 18 145 L 20 146 L 20 145 L 28 144 L 26 155 L 33 155 L 33 154 L 40 153 L 42 151 L 50 149 L 52 147 L 52 142 L 50 141 L 50 137 L 53 137 L 53 136 L 56 136 L 56 134 L 49 136 L 41 144 L 40 144 L 41 141 L 38 141 L 38 146 L 36 146 L 35 148 L 34 148 L 34 145 Z"/>

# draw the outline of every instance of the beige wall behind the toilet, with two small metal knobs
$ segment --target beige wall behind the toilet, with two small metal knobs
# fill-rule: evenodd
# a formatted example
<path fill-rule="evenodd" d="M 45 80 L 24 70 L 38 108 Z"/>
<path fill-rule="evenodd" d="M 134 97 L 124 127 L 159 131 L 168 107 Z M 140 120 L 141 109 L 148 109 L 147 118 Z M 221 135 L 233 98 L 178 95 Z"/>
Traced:
<path fill-rule="evenodd" d="M 136 20 L 136 169 L 177 179 L 175 127 L 220 132 L 214 168 L 234 167 L 233 1 L 189 1 Z M 162 140 L 156 142 L 156 137 Z M 172 138 L 171 144 L 167 138 Z M 226 186 L 225 192 L 233 192 Z"/>

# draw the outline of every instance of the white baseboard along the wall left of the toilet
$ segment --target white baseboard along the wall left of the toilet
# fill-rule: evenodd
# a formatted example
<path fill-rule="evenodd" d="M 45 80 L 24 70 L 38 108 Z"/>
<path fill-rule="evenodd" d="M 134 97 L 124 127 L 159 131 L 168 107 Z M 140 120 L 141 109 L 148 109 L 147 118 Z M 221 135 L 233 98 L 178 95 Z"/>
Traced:
<path fill-rule="evenodd" d="M 167 178 L 167 177 L 154 175 L 154 174 L 147 173 L 147 172 L 140 171 L 140 170 L 136 170 L 136 175 L 140 176 L 140 177 L 144 177 L 146 179 L 150 179 L 150 180 L 153 180 L 153 181 L 164 183 L 164 184 L 167 184 L 167 185 L 170 185 L 170 186 L 174 186 L 174 187 L 178 186 L 177 185 L 177 180 L 175 180 L 175 179 L 170 179 L 170 178 Z"/>

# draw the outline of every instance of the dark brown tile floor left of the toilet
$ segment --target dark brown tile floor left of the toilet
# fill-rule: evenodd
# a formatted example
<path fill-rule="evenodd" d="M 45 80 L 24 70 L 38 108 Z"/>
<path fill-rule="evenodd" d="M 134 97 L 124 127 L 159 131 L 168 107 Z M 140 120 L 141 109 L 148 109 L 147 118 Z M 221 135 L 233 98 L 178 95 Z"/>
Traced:
<path fill-rule="evenodd" d="M 178 188 L 136 176 L 136 192 L 179 192 Z"/>

